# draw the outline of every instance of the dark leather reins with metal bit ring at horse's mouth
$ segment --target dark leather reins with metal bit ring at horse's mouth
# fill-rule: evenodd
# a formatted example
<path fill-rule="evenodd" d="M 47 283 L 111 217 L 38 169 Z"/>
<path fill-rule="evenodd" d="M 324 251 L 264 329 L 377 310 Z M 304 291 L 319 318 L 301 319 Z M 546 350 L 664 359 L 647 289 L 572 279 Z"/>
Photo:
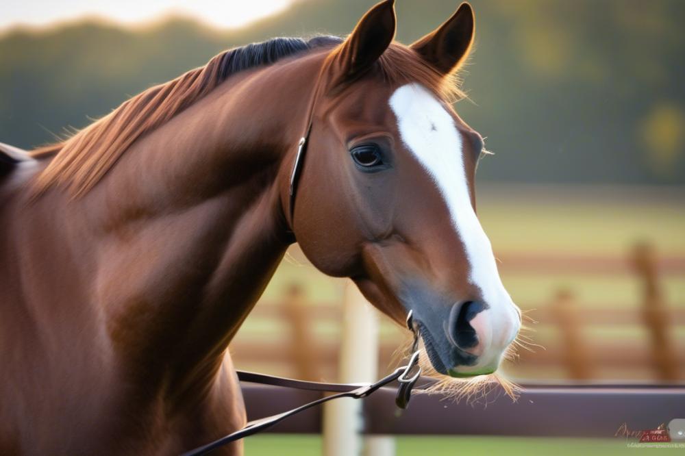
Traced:
<path fill-rule="evenodd" d="M 282 386 L 286 388 L 297 388 L 299 390 L 312 390 L 321 392 L 338 392 L 332 396 L 322 397 L 316 401 L 300 405 L 295 409 L 284 411 L 281 414 L 276 414 L 272 416 L 267 416 L 266 418 L 260 418 L 258 420 L 253 420 L 247 423 L 245 427 L 226 435 L 219 440 L 214 440 L 209 444 L 199 446 L 194 450 L 184 453 L 182 456 L 199 456 L 205 455 L 219 446 L 223 446 L 229 442 L 234 442 L 248 435 L 253 435 L 275 425 L 288 416 L 299 414 L 299 412 L 306 410 L 310 407 L 316 405 L 321 405 L 325 402 L 332 401 L 333 399 L 341 397 L 351 397 L 354 399 L 364 398 L 369 396 L 373 392 L 379 390 L 379 388 L 391 383 L 395 380 L 399 383 L 399 388 L 397 388 L 397 396 L 395 397 L 395 404 L 401 409 L 406 409 L 409 405 L 409 400 L 412 395 L 412 388 L 416 384 L 416 381 L 421 376 L 421 366 L 418 366 L 419 362 L 419 333 L 416 331 L 414 321 L 412 320 L 412 311 L 409 312 L 407 316 L 407 327 L 414 334 L 414 344 L 412 345 L 412 356 L 409 359 L 409 363 L 406 366 L 399 367 L 390 375 L 383 377 L 379 381 L 370 384 L 360 384 L 360 383 L 318 383 L 314 381 L 301 381 L 286 379 L 283 377 L 274 377 L 271 375 L 257 374 L 255 372 L 246 372 L 244 370 L 236 371 L 238 373 L 238 379 L 240 381 L 249 381 L 252 383 L 262 383 L 264 385 L 275 385 Z M 416 368 L 416 372 L 412 371 Z"/>

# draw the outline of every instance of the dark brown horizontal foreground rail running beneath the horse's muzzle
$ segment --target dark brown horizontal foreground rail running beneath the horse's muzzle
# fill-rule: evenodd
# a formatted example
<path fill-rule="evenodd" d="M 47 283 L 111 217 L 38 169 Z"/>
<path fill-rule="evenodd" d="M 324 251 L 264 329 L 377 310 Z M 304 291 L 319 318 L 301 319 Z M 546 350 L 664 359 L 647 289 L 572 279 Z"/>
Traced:
<path fill-rule="evenodd" d="M 313 401 L 319 394 L 279 387 L 243 385 L 250 419 Z M 527 435 L 534 437 L 621 437 L 621 427 L 643 431 L 685 418 L 684 386 L 529 385 L 516 402 L 506 396 L 484 403 L 454 403 L 414 395 L 398 413 L 395 390 L 382 388 L 364 399 L 365 433 L 423 435 Z M 321 409 L 310 409 L 271 432 L 319 433 Z M 618 435 L 617 435 L 618 434 Z"/>

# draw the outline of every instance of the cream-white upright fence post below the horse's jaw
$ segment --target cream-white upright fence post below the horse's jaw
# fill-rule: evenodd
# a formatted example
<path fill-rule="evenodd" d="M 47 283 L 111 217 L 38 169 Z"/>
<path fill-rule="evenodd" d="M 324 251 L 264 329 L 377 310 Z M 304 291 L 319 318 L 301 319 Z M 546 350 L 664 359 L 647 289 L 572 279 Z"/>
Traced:
<path fill-rule="evenodd" d="M 342 323 L 338 381 L 344 383 L 376 381 L 378 374 L 377 314 L 351 281 L 345 287 Z M 326 403 L 323 407 L 323 454 L 325 456 L 360 455 L 363 427 L 360 401 L 344 398 Z M 394 445 L 390 448 L 391 452 L 388 452 L 387 442 L 381 442 L 378 439 L 372 438 L 367 444 L 367 448 L 372 448 L 373 455 L 393 455 Z"/>

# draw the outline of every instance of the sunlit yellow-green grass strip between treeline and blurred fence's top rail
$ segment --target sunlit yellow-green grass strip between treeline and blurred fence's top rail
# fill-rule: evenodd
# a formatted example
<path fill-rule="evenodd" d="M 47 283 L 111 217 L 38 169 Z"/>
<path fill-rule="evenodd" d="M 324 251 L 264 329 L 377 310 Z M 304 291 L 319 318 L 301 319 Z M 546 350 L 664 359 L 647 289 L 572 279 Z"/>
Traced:
<path fill-rule="evenodd" d="M 685 190 L 496 187 L 478 212 L 495 251 L 624 254 L 638 240 L 685 255 Z"/>

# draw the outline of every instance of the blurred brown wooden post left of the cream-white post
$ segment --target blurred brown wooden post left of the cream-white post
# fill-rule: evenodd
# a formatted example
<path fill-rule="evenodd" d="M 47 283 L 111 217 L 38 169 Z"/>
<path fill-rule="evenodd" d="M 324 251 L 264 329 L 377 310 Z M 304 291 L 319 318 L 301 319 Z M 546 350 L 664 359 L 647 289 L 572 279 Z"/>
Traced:
<path fill-rule="evenodd" d="M 316 365 L 316 344 L 312 337 L 312 321 L 307 311 L 306 296 L 297 283 L 286 292 L 283 312 L 290 326 L 290 359 L 295 364 L 298 379 L 319 381 Z"/>

